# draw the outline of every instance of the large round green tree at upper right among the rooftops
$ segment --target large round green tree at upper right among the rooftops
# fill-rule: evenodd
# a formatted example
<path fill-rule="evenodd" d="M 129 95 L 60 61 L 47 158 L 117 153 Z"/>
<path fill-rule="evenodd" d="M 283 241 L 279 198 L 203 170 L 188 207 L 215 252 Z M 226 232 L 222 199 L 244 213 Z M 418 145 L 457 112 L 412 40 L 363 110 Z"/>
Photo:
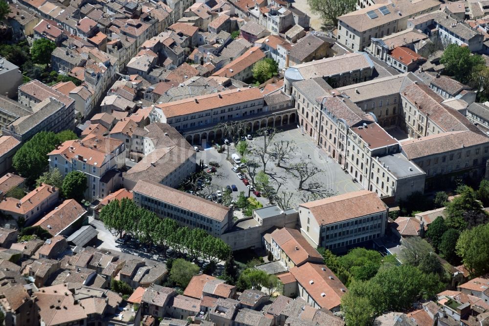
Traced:
<path fill-rule="evenodd" d="M 479 54 L 472 54 L 468 47 L 449 44 L 445 47 L 440 63 L 445 66 L 446 73 L 461 83 L 467 83 L 471 72 L 480 66 L 485 66 L 484 59 Z"/>

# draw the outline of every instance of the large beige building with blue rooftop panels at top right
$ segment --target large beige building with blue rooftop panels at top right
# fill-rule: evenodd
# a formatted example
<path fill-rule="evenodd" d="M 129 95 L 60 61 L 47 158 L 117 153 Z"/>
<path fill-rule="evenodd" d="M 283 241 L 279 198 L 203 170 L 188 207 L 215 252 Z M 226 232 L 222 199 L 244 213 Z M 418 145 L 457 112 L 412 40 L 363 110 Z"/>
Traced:
<path fill-rule="evenodd" d="M 382 38 L 407 28 L 415 16 L 440 9 L 437 0 L 388 0 L 338 17 L 338 43 L 354 51 L 368 47 L 371 38 Z"/>

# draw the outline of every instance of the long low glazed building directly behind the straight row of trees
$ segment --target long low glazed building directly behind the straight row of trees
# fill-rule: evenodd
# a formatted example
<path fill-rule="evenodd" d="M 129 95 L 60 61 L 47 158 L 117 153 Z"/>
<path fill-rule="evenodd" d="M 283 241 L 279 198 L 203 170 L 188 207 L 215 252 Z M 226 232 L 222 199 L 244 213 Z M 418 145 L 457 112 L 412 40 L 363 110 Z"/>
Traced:
<path fill-rule="evenodd" d="M 158 184 L 139 180 L 133 188 L 137 206 L 154 211 L 162 218 L 172 218 L 180 225 L 201 228 L 220 237 L 233 223 L 233 208 Z"/>

